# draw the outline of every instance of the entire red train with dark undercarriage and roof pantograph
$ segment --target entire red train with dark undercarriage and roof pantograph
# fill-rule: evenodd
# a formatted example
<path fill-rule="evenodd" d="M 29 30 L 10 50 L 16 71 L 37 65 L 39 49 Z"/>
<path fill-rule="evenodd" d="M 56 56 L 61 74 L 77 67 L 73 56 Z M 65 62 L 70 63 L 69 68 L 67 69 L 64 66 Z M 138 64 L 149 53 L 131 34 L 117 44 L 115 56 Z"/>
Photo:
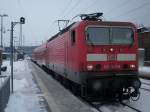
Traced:
<path fill-rule="evenodd" d="M 103 21 L 103 13 L 81 14 L 44 44 L 32 60 L 82 97 L 139 96 L 138 34 L 131 22 Z"/>

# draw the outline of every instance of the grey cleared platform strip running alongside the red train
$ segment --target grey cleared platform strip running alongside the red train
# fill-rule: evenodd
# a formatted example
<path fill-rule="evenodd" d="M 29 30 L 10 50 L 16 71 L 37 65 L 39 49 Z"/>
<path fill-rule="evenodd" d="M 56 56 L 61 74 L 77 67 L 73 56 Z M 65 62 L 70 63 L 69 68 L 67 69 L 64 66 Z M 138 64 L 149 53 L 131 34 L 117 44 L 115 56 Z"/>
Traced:
<path fill-rule="evenodd" d="M 28 63 L 52 112 L 95 112 L 37 65 Z"/>

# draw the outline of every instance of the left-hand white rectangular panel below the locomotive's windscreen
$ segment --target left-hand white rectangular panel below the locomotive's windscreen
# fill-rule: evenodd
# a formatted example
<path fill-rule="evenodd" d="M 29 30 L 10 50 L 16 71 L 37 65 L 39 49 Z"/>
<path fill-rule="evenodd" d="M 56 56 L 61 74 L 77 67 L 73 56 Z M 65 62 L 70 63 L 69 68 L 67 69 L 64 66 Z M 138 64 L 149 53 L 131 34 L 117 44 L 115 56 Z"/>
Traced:
<path fill-rule="evenodd" d="M 107 61 L 107 54 L 87 54 L 87 61 Z"/>

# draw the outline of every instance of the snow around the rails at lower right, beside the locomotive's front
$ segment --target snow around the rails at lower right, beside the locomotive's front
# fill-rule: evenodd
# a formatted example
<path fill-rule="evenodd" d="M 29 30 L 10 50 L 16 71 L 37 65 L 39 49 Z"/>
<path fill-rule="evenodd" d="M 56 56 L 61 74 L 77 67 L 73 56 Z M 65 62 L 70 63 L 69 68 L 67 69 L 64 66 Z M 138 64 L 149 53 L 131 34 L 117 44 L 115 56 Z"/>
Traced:
<path fill-rule="evenodd" d="M 150 80 L 140 79 L 144 83 L 150 84 Z M 150 85 L 142 84 L 143 88 L 150 89 Z M 141 96 L 138 101 L 132 101 L 131 99 L 125 101 L 126 104 L 141 110 L 141 112 L 150 112 L 150 91 L 140 89 Z M 135 112 L 134 110 L 123 107 L 118 104 L 109 104 L 101 106 L 100 109 L 104 112 Z"/>

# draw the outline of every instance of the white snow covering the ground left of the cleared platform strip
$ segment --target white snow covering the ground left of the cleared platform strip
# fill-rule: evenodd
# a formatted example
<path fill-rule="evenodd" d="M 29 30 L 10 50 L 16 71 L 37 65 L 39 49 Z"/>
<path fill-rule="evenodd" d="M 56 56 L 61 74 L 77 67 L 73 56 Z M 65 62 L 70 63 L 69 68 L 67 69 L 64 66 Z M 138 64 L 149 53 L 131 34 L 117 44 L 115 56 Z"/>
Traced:
<path fill-rule="evenodd" d="M 10 62 L 5 61 L 8 70 L 3 75 L 10 75 Z M 5 112 L 46 112 L 40 105 L 39 88 L 33 80 L 27 61 L 14 62 L 14 93 L 11 94 Z"/>

